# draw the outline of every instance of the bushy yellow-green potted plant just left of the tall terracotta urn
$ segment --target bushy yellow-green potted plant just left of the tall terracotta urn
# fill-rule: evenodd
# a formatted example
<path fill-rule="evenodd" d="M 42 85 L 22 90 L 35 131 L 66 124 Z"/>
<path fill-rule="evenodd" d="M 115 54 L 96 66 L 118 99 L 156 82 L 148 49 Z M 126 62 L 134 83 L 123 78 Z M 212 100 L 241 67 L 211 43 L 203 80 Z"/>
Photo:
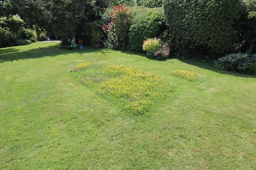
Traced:
<path fill-rule="evenodd" d="M 154 52 L 158 51 L 162 47 L 162 41 L 160 38 L 148 38 L 143 41 L 143 50 L 147 51 L 147 57 L 153 57 Z"/>

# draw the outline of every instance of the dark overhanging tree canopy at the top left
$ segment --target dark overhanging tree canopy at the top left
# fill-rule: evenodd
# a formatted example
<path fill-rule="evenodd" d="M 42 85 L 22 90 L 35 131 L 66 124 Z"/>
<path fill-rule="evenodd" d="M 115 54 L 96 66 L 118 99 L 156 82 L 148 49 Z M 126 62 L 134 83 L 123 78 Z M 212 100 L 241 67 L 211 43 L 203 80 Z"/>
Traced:
<path fill-rule="evenodd" d="M 2 1 L 1 1 L 2 2 Z M 108 0 L 3 0 L 1 10 L 5 16 L 19 14 L 25 21 L 26 28 L 37 25 L 47 30 L 47 35 L 53 35 L 61 40 L 81 35 L 81 25 L 93 21 L 100 11 L 106 8 Z"/>

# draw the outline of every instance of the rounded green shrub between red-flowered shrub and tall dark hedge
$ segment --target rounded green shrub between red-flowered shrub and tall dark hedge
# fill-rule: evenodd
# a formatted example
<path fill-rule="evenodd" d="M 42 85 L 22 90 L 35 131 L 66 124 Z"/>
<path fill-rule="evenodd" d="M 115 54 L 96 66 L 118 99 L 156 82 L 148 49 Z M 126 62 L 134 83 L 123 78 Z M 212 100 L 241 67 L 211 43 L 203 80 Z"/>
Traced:
<path fill-rule="evenodd" d="M 160 27 L 164 24 L 164 15 L 161 12 L 150 12 L 134 23 L 129 32 L 129 45 L 132 51 L 143 51 L 144 37 L 153 38 L 161 34 Z"/>

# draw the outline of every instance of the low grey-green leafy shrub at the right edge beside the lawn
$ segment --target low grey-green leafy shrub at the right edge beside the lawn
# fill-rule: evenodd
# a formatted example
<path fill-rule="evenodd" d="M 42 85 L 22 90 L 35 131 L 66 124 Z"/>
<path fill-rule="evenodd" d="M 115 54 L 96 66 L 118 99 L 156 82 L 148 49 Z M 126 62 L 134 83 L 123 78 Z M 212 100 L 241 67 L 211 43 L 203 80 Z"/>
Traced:
<path fill-rule="evenodd" d="M 256 62 L 256 54 L 228 54 L 215 61 L 215 68 L 239 73 L 253 74 Z"/>

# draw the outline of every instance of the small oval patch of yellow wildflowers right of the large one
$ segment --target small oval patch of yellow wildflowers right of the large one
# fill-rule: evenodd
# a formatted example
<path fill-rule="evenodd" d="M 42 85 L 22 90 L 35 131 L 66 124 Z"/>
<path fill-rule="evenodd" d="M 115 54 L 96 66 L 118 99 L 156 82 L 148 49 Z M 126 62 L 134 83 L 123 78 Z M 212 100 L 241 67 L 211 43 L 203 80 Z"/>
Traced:
<path fill-rule="evenodd" d="M 174 70 L 174 71 L 169 71 L 169 73 L 176 77 L 187 79 L 189 81 L 202 80 L 203 78 L 200 74 L 196 72 L 191 72 L 188 70 Z"/>

